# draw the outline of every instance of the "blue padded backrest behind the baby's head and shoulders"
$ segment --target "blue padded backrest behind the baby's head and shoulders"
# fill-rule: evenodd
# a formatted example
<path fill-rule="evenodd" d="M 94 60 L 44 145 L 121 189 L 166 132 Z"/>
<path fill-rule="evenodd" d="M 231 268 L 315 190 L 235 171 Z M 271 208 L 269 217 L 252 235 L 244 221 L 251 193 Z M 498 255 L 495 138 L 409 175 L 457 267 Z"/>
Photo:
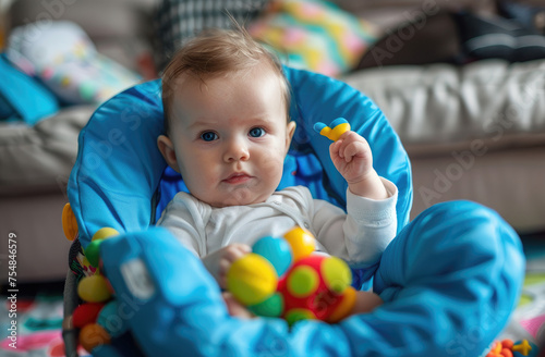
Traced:
<path fill-rule="evenodd" d="M 398 186 L 398 230 L 404 226 L 412 204 L 411 168 L 383 112 L 342 82 L 289 67 L 284 72 L 292 87 L 290 114 L 298 122 L 287 171 L 296 168 L 301 152 L 311 152 L 310 158 L 315 155 L 317 159 L 306 156 L 304 163 L 322 165 L 327 174 L 320 181 L 329 187 L 328 195 L 320 198 L 342 205 L 347 184 L 329 158 L 330 141 L 316 134 L 313 125 L 346 118 L 370 143 L 378 174 Z M 167 167 L 156 144 L 162 122 L 161 83 L 157 79 L 111 98 L 82 130 L 68 195 L 84 247 L 100 227 L 135 232 L 154 223 L 153 200 Z M 301 176 L 284 174 L 280 186 L 302 183 Z"/>

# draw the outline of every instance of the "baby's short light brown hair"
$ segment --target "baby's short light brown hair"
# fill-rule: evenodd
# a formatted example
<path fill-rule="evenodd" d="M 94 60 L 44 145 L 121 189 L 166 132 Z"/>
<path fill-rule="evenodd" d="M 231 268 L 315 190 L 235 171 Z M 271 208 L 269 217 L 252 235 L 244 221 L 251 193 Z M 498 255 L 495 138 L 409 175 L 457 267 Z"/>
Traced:
<path fill-rule="evenodd" d="M 177 79 L 183 75 L 195 76 L 203 83 L 230 73 L 244 73 L 256 65 L 267 65 L 278 76 L 286 115 L 290 121 L 290 86 L 278 58 L 255 41 L 240 25 L 234 29 L 211 28 L 202 32 L 180 48 L 162 73 L 162 106 L 165 133 L 170 130 L 169 116 Z M 249 81 L 252 81 L 249 78 Z"/>

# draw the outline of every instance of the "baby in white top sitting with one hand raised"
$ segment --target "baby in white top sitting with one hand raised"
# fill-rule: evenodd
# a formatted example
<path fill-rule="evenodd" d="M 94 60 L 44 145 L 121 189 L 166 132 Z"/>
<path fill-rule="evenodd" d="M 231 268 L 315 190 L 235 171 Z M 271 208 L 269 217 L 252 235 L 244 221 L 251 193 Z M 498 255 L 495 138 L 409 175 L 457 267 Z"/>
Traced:
<path fill-rule="evenodd" d="M 348 182 L 348 213 L 306 187 L 277 190 L 295 132 L 290 87 L 278 60 L 244 29 L 208 30 L 182 47 L 164 72 L 162 100 L 166 134 L 157 144 L 191 194 L 177 194 L 158 225 L 201 257 L 221 287 L 250 245 L 294 225 L 353 268 L 378 262 L 396 235 L 397 187 L 373 169 L 367 141 L 347 132 L 330 156 Z M 354 312 L 380 303 L 359 292 Z"/>

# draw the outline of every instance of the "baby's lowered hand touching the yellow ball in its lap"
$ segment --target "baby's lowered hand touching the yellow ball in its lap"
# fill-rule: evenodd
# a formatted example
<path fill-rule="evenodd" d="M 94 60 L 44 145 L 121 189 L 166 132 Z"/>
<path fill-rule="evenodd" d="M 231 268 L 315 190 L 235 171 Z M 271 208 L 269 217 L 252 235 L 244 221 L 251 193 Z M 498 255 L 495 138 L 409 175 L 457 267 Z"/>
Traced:
<path fill-rule="evenodd" d="M 242 243 L 233 243 L 203 257 L 203 263 L 216 279 L 221 288 L 227 288 L 227 272 L 239 258 L 252 251 L 252 248 Z"/>

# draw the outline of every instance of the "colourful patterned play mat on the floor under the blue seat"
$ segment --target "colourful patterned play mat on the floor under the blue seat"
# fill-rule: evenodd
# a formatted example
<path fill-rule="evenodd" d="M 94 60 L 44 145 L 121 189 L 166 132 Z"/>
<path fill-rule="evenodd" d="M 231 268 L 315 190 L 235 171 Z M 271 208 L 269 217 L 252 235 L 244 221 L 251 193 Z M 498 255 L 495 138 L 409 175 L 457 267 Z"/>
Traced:
<path fill-rule="evenodd" d="M 509 324 L 498 336 L 498 341 L 510 338 L 516 342 L 528 340 L 532 343 L 538 341 L 543 343 L 545 341 L 545 241 L 541 237 L 541 239 L 533 238 L 528 242 L 523 239 L 523 243 L 528 264 L 522 296 Z M 506 264 L 508 263 L 506 261 Z M 64 356 L 61 334 L 62 296 L 59 293 L 45 292 L 38 293 L 34 298 L 17 298 L 16 349 L 10 347 L 13 342 L 5 337 L 5 331 L 9 331 L 12 320 L 9 311 L 11 303 L 5 293 L 2 293 L 2 301 L 4 304 L 0 308 L 0 331 L 3 336 L 0 343 L 0 356 Z M 479 329 L 486 329 L 486 327 Z M 479 329 L 475 330 L 475 336 L 479 335 Z M 461 356 L 464 343 L 471 343 L 471 338 L 475 336 L 453 336 L 453 344 L 449 346 L 449 356 Z M 80 356 L 88 356 L 88 354 L 82 348 Z"/>

